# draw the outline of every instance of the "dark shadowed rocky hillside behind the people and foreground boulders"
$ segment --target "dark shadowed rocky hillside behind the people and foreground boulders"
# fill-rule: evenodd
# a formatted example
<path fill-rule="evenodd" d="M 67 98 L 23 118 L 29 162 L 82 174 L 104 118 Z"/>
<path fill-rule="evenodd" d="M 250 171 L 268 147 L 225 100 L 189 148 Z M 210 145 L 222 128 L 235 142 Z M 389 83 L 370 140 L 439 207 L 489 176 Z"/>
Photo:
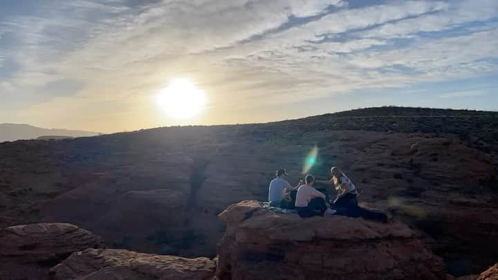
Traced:
<path fill-rule="evenodd" d="M 498 113 L 378 108 L 268 124 L 169 127 L 0 144 L 0 227 L 65 222 L 108 248 L 214 256 L 217 215 L 267 197 L 275 170 L 295 184 L 343 167 L 360 200 L 403 221 L 448 272 L 497 261 Z"/>

